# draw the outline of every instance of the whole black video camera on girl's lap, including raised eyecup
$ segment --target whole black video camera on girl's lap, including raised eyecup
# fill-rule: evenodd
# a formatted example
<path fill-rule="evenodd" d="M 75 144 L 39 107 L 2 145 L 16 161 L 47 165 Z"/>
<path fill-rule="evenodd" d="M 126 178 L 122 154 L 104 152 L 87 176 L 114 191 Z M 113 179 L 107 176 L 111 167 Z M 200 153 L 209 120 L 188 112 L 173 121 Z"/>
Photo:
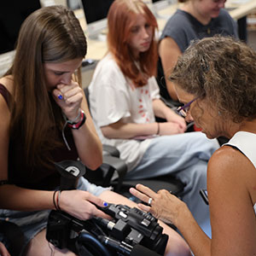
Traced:
<path fill-rule="evenodd" d="M 84 165 L 65 160 L 55 163 L 55 167 L 61 174 L 60 189 L 76 189 L 78 178 L 84 175 Z M 96 217 L 80 220 L 67 212 L 51 211 L 46 239 L 55 247 L 68 248 L 80 256 L 156 256 L 165 253 L 168 236 L 162 234 L 163 228 L 151 213 L 114 204 L 98 208 L 113 220 Z"/>

